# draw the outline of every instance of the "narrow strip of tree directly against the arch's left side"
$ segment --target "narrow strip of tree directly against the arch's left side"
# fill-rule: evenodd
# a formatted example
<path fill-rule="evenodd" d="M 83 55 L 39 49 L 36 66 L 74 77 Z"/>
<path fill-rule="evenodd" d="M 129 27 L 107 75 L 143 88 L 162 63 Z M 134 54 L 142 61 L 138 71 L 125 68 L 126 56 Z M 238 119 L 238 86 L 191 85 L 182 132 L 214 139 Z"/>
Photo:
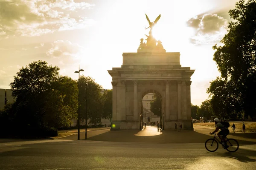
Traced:
<path fill-rule="evenodd" d="M 112 90 L 104 91 L 104 94 L 102 94 L 102 101 L 103 101 L 102 118 L 111 119 L 112 118 Z"/>

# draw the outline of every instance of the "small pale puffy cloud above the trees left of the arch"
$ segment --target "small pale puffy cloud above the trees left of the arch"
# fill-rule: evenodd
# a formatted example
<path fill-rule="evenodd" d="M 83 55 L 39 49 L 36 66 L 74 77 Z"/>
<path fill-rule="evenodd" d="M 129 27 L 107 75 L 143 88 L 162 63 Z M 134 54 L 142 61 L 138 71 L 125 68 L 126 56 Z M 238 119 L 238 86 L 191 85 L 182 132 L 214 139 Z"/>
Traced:
<path fill-rule="evenodd" d="M 52 48 L 46 54 L 57 59 L 58 64 L 67 65 L 78 62 L 84 54 L 84 48 L 67 40 L 58 40 L 52 43 Z"/>

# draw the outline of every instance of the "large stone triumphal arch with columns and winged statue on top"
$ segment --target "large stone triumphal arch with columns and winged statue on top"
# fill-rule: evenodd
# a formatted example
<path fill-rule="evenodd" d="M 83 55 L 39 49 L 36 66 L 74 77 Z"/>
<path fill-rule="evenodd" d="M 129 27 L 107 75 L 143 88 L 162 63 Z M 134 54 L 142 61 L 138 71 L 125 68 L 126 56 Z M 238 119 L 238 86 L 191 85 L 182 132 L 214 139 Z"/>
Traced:
<path fill-rule="evenodd" d="M 181 123 L 191 130 L 190 77 L 195 70 L 181 67 L 180 53 L 166 52 L 151 30 L 147 37 L 146 43 L 141 39 L 137 53 L 122 54 L 120 68 L 108 70 L 113 85 L 111 130 L 140 129 L 142 98 L 147 93 L 161 98 L 164 129 Z"/>

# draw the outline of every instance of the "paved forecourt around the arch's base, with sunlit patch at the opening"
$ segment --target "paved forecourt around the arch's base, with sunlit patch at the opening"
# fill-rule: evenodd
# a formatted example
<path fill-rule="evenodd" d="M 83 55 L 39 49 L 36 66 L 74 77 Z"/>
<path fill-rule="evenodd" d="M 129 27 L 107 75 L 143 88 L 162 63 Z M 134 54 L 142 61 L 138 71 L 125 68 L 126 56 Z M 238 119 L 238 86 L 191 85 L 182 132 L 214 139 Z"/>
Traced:
<path fill-rule="evenodd" d="M 153 142 L 153 143 L 204 143 L 213 137 L 209 134 L 214 128 L 194 125 L 195 130 L 163 130 L 157 132 L 157 127 L 146 126 L 140 130 L 116 130 L 110 129 L 87 132 L 87 140 L 105 142 Z M 237 139 L 244 144 L 256 144 L 256 133 L 230 133 L 228 138 Z M 61 139 L 77 140 L 77 134 Z M 85 133 L 80 133 L 80 139 L 85 139 Z"/>

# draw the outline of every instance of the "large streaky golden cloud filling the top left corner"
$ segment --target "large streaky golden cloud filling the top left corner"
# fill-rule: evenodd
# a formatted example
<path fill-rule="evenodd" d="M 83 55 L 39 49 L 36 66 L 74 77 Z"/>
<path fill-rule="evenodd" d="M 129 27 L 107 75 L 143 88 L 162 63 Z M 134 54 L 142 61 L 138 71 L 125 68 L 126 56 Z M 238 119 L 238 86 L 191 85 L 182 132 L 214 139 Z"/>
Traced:
<path fill-rule="evenodd" d="M 90 3 L 76 3 L 74 0 L 1 0 L 0 37 L 34 37 L 84 28 L 93 24 L 93 20 L 75 16 L 74 13 L 93 6 Z"/>

